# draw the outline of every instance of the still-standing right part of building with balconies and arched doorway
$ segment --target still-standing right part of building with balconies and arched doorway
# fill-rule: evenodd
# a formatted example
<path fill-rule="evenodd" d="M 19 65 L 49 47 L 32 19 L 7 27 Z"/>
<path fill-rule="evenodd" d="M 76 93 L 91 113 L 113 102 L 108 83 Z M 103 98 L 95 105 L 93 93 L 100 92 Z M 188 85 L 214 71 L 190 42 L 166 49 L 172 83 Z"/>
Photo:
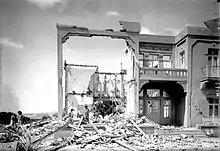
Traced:
<path fill-rule="evenodd" d="M 219 30 L 185 27 L 177 36 L 139 35 L 140 102 L 158 124 L 195 126 L 218 118 Z"/>

